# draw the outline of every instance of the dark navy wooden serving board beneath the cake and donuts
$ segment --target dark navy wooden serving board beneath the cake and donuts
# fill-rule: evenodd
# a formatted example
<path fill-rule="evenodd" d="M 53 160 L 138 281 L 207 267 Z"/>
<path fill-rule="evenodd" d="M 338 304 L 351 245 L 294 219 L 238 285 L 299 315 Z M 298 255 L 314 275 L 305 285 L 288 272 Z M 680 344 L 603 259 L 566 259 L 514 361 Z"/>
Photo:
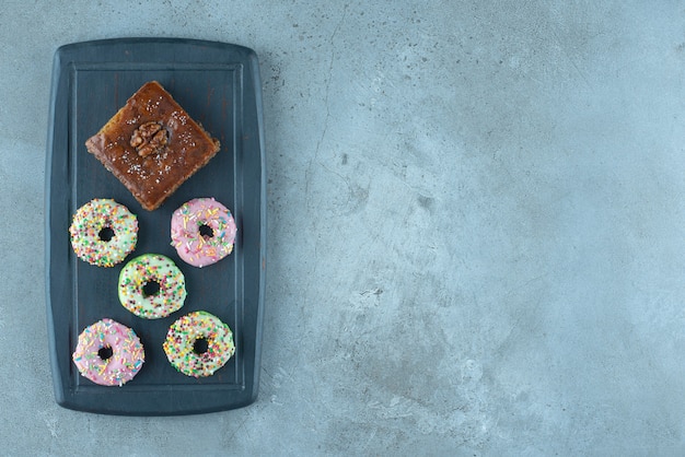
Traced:
<path fill-rule="evenodd" d="M 85 140 L 143 83 L 156 80 L 221 141 L 221 151 L 158 210 L 146 211 L 90 154 Z M 55 55 L 46 163 L 47 321 L 56 400 L 82 411 L 167 415 L 228 410 L 253 402 L 259 385 L 266 268 L 265 151 L 257 58 L 245 47 L 191 39 L 124 38 L 78 43 Z M 235 215 L 233 254 L 201 269 L 171 246 L 171 215 L 185 201 L 214 197 Z M 74 255 L 71 218 L 93 198 L 113 198 L 138 215 L 136 250 L 113 268 Z M 117 280 L 146 254 L 174 259 L 186 278 L 184 307 L 156 320 L 124 308 Z M 236 352 L 213 376 L 196 379 L 167 362 L 162 342 L 186 313 L 207 310 L 234 332 Z M 146 363 L 121 387 L 95 385 L 71 361 L 79 333 L 109 317 L 131 327 Z"/>

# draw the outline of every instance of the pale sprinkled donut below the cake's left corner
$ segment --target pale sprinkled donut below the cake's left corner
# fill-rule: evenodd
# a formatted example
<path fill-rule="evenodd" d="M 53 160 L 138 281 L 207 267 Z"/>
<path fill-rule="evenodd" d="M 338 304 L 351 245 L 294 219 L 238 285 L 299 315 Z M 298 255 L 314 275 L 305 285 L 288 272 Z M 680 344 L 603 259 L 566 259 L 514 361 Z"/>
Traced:
<path fill-rule="evenodd" d="M 76 255 L 97 267 L 114 267 L 138 242 L 138 219 L 112 199 L 93 199 L 79 208 L 69 227 Z"/>

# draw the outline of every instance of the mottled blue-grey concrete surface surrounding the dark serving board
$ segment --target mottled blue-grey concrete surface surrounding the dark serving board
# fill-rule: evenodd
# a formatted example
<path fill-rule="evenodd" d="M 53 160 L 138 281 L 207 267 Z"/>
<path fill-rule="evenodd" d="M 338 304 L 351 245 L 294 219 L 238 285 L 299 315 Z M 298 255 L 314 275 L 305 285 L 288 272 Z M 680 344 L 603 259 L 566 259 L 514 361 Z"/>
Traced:
<path fill-rule="evenodd" d="M 5 1 L 0 454 L 685 454 L 685 11 L 676 1 Z M 255 49 L 258 401 L 58 407 L 44 163 L 59 45 Z"/>

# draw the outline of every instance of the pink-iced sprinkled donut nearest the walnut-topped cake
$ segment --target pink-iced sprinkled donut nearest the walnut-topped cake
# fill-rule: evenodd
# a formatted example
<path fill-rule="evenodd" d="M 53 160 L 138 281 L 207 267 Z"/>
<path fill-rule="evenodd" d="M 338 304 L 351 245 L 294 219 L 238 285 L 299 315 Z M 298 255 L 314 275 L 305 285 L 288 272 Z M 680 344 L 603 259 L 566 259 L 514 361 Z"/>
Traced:
<path fill-rule="evenodd" d="M 235 220 L 213 198 L 196 198 L 172 215 L 172 246 L 194 267 L 212 265 L 233 251 Z"/>

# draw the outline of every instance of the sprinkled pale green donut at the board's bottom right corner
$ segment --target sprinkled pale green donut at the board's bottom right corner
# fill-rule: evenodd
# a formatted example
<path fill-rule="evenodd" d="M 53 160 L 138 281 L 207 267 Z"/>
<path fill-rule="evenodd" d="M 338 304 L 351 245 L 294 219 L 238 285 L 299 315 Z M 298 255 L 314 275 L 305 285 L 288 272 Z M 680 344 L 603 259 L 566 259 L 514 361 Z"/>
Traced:
<path fill-rule="evenodd" d="M 217 316 L 204 310 L 171 325 L 164 341 L 169 362 L 187 376 L 211 376 L 235 353 L 233 332 Z"/>

